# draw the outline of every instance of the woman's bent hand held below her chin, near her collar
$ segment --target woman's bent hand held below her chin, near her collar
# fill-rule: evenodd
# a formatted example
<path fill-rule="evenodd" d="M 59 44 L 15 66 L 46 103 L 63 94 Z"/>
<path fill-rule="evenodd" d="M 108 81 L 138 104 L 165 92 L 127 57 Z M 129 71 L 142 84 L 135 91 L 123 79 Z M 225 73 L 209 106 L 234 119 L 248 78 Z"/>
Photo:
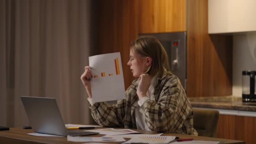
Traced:
<path fill-rule="evenodd" d="M 136 93 L 139 99 L 141 99 L 147 96 L 147 91 L 149 90 L 151 78 L 149 77 L 149 74 L 141 74 L 139 78 L 140 80 Z"/>

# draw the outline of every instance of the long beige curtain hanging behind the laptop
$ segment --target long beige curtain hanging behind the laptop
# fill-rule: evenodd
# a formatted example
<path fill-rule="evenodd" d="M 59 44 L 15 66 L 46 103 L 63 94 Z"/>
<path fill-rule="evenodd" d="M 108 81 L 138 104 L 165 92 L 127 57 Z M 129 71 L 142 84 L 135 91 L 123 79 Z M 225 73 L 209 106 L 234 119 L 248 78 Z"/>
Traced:
<path fill-rule="evenodd" d="M 20 96 L 56 98 L 64 123 L 94 123 L 80 75 L 96 50 L 95 5 L 0 0 L 0 125 L 29 125 Z"/>

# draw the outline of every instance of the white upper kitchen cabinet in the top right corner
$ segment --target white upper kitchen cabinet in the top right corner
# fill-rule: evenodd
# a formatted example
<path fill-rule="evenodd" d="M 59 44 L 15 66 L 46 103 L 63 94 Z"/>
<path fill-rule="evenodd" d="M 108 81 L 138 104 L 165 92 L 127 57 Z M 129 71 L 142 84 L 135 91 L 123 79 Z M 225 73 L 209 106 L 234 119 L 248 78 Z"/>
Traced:
<path fill-rule="evenodd" d="M 209 34 L 256 31 L 256 0 L 208 0 Z"/>

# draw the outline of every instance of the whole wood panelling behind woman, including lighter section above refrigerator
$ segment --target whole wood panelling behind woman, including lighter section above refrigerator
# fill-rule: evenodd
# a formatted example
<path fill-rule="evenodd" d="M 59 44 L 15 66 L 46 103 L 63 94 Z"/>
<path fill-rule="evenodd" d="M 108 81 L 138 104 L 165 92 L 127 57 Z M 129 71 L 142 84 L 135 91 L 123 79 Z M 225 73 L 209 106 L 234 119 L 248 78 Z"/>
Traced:
<path fill-rule="evenodd" d="M 184 31 L 184 3 L 185 0 L 99 0 L 98 54 L 121 52 L 125 89 L 135 79 L 127 66 L 131 42 L 139 33 Z"/>

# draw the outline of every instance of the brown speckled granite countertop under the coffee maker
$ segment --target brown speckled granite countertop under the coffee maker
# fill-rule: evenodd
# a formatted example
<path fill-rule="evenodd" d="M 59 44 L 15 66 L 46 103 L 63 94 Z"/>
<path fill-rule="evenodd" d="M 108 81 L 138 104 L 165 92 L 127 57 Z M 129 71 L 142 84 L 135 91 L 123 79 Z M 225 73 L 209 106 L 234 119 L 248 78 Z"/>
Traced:
<path fill-rule="evenodd" d="M 241 97 L 213 96 L 189 97 L 188 99 L 192 107 L 256 112 L 256 102 L 243 102 Z"/>

